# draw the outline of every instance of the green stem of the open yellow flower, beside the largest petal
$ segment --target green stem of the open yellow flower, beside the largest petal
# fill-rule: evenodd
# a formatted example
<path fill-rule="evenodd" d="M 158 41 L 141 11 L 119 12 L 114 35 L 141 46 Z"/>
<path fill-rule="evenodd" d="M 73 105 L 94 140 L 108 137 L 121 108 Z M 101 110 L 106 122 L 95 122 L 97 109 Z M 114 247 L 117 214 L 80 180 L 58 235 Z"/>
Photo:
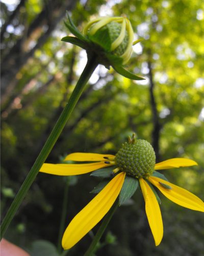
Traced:
<path fill-rule="evenodd" d="M 105 216 L 104 221 L 100 225 L 92 243 L 90 244 L 90 246 L 89 246 L 88 250 L 86 251 L 86 253 L 84 254 L 84 256 L 91 256 L 92 253 L 94 252 L 94 249 L 95 249 L 98 241 L 100 240 L 101 236 L 104 234 L 104 231 L 106 230 L 106 227 L 107 227 L 109 221 L 111 220 L 113 214 L 115 213 L 115 210 L 118 207 L 118 203 L 119 203 L 119 199 L 117 198 L 115 200 L 114 204 L 112 205 L 112 207 L 110 208 L 109 212 Z"/>

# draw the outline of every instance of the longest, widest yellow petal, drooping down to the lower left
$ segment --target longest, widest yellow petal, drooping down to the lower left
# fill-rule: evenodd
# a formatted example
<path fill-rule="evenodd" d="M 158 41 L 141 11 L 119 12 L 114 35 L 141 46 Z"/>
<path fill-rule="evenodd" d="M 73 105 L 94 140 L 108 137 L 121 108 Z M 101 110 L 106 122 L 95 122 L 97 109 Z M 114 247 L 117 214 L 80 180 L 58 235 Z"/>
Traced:
<path fill-rule="evenodd" d="M 64 232 L 62 247 L 66 250 L 80 241 L 110 210 L 120 193 L 125 173 L 119 173 L 73 218 Z"/>

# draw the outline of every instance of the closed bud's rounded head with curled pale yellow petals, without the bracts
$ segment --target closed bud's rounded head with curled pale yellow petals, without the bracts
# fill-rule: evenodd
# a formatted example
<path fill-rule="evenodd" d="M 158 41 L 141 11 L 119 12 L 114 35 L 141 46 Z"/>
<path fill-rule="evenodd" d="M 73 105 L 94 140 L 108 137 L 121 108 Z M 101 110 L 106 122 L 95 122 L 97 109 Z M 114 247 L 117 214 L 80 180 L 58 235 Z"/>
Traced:
<path fill-rule="evenodd" d="M 84 28 L 84 35 L 106 52 L 122 58 L 122 64 L 131 57 L 134 33 L 130 21 L 125 17 L 94 19 Z"/>

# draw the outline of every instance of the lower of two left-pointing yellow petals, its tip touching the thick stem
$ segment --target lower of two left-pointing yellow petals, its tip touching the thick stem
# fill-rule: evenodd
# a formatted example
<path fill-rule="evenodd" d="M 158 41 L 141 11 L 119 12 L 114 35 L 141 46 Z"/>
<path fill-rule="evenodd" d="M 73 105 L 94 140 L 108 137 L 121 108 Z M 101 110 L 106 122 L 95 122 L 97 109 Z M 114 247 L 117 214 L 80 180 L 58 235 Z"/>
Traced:
<path fill-rule="evenodd" d="M 110 166 L 105 164 L 105 162 L 93 162 L 92 164 L 43 164 L 40 172 L 54 174 L 54 175 L 79 175 L 88 172 L 95 171 L 97 169 Z"/>

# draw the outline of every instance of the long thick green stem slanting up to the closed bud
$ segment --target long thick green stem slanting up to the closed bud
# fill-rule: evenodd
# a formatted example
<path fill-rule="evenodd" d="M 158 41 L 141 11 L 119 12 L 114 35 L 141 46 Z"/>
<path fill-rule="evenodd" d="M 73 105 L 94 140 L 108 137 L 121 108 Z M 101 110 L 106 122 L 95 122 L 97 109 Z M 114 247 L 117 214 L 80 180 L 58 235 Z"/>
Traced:
<path fill-rule="evenodd" d="M 55 145 L 60 133 L 62 132 L 62 129 L 64 128 L 68 118 L 70 117 L 70 114 L 77 104 L 84 87 L 86 83 L 88 82 L 89 78 L 93 74 L 95 68 L 97 67 L 98 63 L 96 62 L 96 56 L 93 54 L 92 56 L 89 55 L 87 64 L 84 68 L 84 71 L 75 86 L 68 103 L 66 104 L 64 110 L 62 111 L 62 114 L 60 115 L 60 118 L 58 122 L 56 123 L 52 133 L 49 135 L 42 151 L 40 152 L 37 160 L 35 161 L 35 164 L 33 165 L 31 171 L 29 172 L 27 178 L 24 180 L 20 190 L 18 191 L 18 194 L 16 195 L 13 203 L 11 204 L 11 207 L 9 208 L 8 213 L 6 214 L 2 225 L 1 225 L 1 240 L 11 222 L 13 219 L 13 216 L 15 215 L 16 211 L 18 210 L 18 207 L 20 203 L 22 202 L 25 194 L 31 187 L 31 184 L 33 183 L 36 175 L 38 174 L 40 168 L 44 164 L 44 161 L 46 160 L 49 152 L 52 150 L 53 146 Z"/>

